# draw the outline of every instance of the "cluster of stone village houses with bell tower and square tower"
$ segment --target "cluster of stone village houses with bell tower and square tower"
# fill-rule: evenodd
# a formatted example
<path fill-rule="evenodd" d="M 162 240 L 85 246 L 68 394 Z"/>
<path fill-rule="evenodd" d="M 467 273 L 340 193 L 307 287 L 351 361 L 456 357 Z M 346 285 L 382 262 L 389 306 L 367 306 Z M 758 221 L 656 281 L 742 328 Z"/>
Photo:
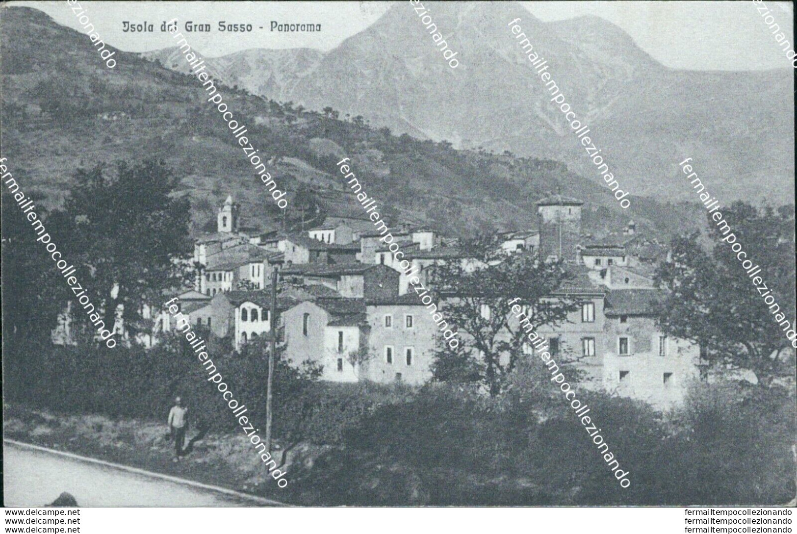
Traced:
<path fill-rule="evenodd" d="M 638 233 L 633 221 L 600 240 L 583 234 L 577 198 L 550 194 L 536 205 L 536 229 L 502 233 L 498 242 L 503 253 L 561 260 L 572 273 L 552 298 L 575 298 L 579 310 L 563 324 L 540 329 L 552 356 L 571 356 L 586 373 L 583 387 L 662 408 L 681 401 L 690 383 L 708 381 L 700 347 L 656 327 L 652 307 L 663 290 L 653 276 L 667 257 L 666 245 Z M 191 324 L 229 337 L 241 351 L 258 337 L 270 339 L 270 285 L 277 270 L 283 357 L 320 364 L 321 379 L 334 383 L 427 383 L 442 332 L 410 277 L 433 288 L 434 266 L 453 261 L 472 270 L 478 262 L 457 239 L 404 225 L 391 232 L 410 262 L 405 271 L 366 214 L 345 215 L 325 216 L 304 232 L 257 233 L 241 227 L 241 206 L 228 196 L 218 208 L 217 231 L 195 238 L 194 288 L 171 296 L 179 297 Z M 438 306 L 445 317 L 445 302 Z M 115 332 L 128 343 L 153 347 L 175 331 L 175 320 L 156 306 L 145 306 L 142 317 L 151 320 L 151 330 L 131 333 L 119 319 Z M 69 340 L 69 322 L 62 317 L 55 342 Z"/>

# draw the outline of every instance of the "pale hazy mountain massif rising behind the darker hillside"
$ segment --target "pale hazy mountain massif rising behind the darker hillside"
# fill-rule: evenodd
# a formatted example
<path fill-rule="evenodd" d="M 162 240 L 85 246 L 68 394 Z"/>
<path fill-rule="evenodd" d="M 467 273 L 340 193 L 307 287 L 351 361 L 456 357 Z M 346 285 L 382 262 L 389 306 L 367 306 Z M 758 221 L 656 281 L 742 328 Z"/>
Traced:
<path fill-rule="evenodd" d="M 473 2 L 468 10 L 445 2 L 424 6 L 458 52 L 457 69 L 448 67 L 414 10 L 397 5 L 302 73 L 281 67 L 272 76 L 273 67 L 249 64 L 250 79 L 269 83 L 249 80 L 241 86 L 305 108 L 331 106 L 341 115 L 445 139 L 457 148 L 558 159 L 599 183 L 514 42 L 507 24 L 519 17 L 567 103 L 590 125 L 615 176 L 634 194 L 689 199 L 688 188 L 664 187 L 684 153 L 703 156 L 705 172 L 728 202 L 760 200 L 763 190 L 793 194 L 788 69 L 669 69 L 624 30 L 596 16 L 541 22 L 512 3 Z"/>

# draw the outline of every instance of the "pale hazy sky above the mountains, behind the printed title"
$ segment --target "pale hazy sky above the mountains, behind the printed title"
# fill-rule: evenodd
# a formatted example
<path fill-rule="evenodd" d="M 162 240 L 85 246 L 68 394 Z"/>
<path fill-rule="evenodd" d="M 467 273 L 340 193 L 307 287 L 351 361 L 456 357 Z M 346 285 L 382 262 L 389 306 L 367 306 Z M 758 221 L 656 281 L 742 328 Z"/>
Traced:
<path fill-rule="evenodd" d="M 394 2 L 80 2 L 100 37 L 118 49 L 144 52 L 174 45 L 161 22 L 210 23 L 196 48 L 216 57 L 252 48 L 304 46 L 329 50 L 375 22 Z M 406 2 L 404 2 L 406 3 Z M 752 70 L 790 67 L 753 2 L 520 2 L 543 21 L 592 14 L 626 31 L 663 65 L 675 69 Z M 794 43 L 791 2 L 764 2 Z M 80 29 L 66 2 L 10 2 L 44 11 Z M 411 11 L 407 10 L 408 16 Z M 252 33 L 220 33 L 218 21 L 250 23 Z M 154 33 L 124 33 L 122 22 L 148 22 Z M 321 24 L 320 33 L 278 33 L 271 21 Z M 264 29 L 259 29 L 263 26 Z M 194 38 L 196 41 L 197 38 Z M 793 47 L 792 47 L 793 48 Z"/>

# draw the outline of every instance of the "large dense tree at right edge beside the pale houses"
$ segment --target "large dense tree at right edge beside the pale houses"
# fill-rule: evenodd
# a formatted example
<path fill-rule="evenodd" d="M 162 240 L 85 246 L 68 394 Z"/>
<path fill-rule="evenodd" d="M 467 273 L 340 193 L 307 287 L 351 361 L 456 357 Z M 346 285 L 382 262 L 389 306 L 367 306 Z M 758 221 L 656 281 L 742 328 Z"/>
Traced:
<path fill-rule="evenodd" d="M 794 220 L 783 225 L 771 208 L 743 202 L 723 214 L 752 265 L 761 266 L 761 280 L 751 279 L 737 252 L 720 242 L 723 234 L 708 215 L 709 234 L 716 240 L 713 251 L 701 247 L 697 233 L 678 236 L 671 244 L 672 259 L 656 273 L 657 282 L 669 290 L 658 307 L 659 326 L 668 335 L 700 344 L 709 363 L 747 369 L 760 386 L 770 387 L 783 357 L 791 354 L 779 318 L 794 325 L 794 241 L 787 235 Z M 768 286 L 777 307 L 764 302 L 765 292 L 756 289 L 761 285 Z"/>

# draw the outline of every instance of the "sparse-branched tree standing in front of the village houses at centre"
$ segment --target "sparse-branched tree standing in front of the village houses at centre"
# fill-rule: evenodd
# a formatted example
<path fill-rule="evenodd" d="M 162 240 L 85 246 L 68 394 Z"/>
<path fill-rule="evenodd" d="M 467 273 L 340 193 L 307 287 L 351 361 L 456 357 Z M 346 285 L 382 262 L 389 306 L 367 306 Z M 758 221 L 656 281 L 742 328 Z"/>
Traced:
<path fill-rule="evenodd" d="M 470 241 L 463 252 L 472 259 L 435 266 L 430 285 L 446 297 L 442 314 L 467 334 L 463 344 L 469 347 L 438 348 L 434 377 L 477 379 L 495 396 L 524 358 L 527 333 L 563 323 L 577 304 L 565 297 L 551 298 L 570 277 L 559 263 L 544 263 L 532 254 L 505 253 L 494 238 L 487 237 Z M 469 269 L 474 265 L 476 269 Z M 510 321 L 513 305 L 528 316 L 522 328 Z"/>

